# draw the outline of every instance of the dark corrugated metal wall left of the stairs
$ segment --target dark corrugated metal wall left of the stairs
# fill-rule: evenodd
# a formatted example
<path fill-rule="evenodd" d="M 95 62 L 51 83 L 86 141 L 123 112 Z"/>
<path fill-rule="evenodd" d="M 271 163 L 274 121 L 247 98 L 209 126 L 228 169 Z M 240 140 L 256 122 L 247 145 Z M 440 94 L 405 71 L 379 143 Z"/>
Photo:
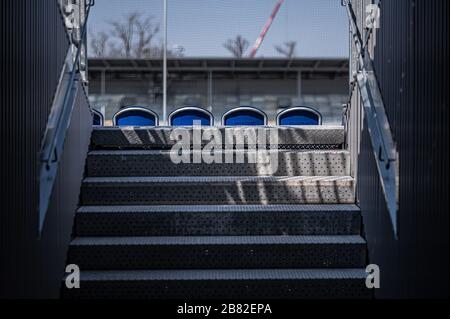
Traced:
<path fill-rule="evenodd" d="M 80 93 L 38 239 L 38 153 L 69 39 L 57 0 L 3 0 L 0 14 L 0 296 L 58 297 L 90 136 L 88 102 Z"/>

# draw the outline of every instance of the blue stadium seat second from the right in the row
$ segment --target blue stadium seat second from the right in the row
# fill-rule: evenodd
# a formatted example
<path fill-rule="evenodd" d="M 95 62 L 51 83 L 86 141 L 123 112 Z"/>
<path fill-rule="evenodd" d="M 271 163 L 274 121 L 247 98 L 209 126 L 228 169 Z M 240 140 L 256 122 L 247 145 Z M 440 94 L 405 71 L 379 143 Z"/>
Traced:
<path fill-rule="evenodd" d="M 225 113 L 222 117 L 224 126 L 262 126 L 267 125 L 267 115 L 251 106 L 241 106 Z"/>

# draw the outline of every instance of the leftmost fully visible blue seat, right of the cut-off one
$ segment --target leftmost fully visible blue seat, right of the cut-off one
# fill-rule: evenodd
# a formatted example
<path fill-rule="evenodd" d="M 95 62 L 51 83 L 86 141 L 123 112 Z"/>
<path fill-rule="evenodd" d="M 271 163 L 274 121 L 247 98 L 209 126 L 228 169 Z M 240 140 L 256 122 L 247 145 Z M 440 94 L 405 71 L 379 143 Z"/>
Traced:
<path fill-rule="evenodd" d="M 130 106 L 117 112 L 113 117 L 114 126 L 158 126 L 158 115 L 144 107 Z"/>

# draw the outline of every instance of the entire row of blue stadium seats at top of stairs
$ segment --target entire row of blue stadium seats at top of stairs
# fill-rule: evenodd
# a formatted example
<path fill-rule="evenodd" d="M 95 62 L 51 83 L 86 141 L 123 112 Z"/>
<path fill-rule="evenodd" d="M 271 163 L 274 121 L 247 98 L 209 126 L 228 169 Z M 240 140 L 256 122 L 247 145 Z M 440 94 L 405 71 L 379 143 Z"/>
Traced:
<path fill-rule="evenodd" d="M 168 117 L 170 126 L 213 126 L 214 116 L 205 109 L 187 106 L 172 112 Z M 291 107 L 277 115 L 277 125 L 322 125 L 322 115 L 310 107 Z M 94 126 L 103 126 L 103 115 L 93 111 Z M 241 106 L 226 112 L 222 117 L 223 126 L 264 126 L 268 124 L 267 115 L 251 106 Z M 118 111 L 113 117 L 114 126 L 159 126 L 158 115 L 144 107 L 130 106 Z"/>

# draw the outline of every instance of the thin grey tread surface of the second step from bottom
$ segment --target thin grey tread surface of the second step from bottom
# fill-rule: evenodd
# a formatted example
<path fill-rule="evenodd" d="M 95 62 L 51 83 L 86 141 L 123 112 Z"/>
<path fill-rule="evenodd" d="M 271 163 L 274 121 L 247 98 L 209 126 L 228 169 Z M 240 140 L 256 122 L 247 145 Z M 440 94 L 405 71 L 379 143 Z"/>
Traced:
<path fill-rule="evenodd" d="M 144 246 L 144 245 L 296 245 L 359 244 L 357 235 L 342 236 L 158 236 L 158 237 L 77 237 L 71 246 Z"/>

